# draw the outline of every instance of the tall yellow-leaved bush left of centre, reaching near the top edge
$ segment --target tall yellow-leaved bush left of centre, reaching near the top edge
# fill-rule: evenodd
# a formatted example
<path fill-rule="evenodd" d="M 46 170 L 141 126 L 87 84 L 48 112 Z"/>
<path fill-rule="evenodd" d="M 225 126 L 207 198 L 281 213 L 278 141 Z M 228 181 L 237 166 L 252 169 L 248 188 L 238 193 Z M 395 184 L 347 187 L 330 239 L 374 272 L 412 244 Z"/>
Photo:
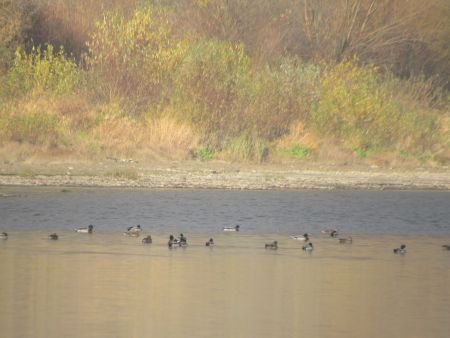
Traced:
<path fill-rule="evenodd" d="M 130 18 L 106 12 L 87 43 L 86 63 L 98 76 L 95 92 L 107 99 L 131 98 L 142 109 L 149 100 L 157 102 L 183 50 L 170 32 L 162 7 L 138 8 Z"/>

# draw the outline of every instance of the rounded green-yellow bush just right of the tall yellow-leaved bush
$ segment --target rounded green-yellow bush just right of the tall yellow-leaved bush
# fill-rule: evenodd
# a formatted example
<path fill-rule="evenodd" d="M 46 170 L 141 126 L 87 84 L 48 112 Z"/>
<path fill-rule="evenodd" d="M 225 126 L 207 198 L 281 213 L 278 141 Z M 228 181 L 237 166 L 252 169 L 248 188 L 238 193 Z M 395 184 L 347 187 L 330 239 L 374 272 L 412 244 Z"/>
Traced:
<path fill-rule="evenodd" d="M 236 134 L 243 122 L 236 107 L 238 86 L 249 71 L 244 46 L 219 40 L 194 42 L 176 70 L 172 105 L 182 119 L 209 136 Z"/>

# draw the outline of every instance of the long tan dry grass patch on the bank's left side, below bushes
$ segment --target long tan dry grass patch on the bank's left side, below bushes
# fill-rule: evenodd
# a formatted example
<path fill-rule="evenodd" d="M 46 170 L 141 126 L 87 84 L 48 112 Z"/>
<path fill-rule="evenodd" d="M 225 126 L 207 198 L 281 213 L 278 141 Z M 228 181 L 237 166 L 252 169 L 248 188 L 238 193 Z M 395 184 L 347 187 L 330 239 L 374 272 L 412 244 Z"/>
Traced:
<path fill-rule="evenodd" d="M 36 122 L 37 116 L 46 120 Z M 114 103 L 93 106 L 83 95 L 15 101 L 2 107 L 0 117 L 5 128 L 0 154 L 10 161 L 46 154 L 182 160 L 200 139 L 174 118 L 135 119 Z M 47 120 L 52 124 L 47 126 Z"/>

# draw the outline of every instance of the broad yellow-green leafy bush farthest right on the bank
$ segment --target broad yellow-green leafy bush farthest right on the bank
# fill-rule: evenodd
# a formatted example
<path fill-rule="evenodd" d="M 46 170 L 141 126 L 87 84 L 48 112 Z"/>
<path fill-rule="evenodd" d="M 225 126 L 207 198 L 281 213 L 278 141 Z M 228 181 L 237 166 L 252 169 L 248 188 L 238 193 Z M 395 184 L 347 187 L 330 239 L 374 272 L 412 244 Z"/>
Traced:
<path fill-rule="evenodd" d="M 323 74 L 320 98 L 309 123 L 351 149 L 367 150 L 404 142 L 429 146 L 427 138 L 437 128 L 433 115 L 419 107 L 406 109 L 375 67 L 346 61 Z"/>

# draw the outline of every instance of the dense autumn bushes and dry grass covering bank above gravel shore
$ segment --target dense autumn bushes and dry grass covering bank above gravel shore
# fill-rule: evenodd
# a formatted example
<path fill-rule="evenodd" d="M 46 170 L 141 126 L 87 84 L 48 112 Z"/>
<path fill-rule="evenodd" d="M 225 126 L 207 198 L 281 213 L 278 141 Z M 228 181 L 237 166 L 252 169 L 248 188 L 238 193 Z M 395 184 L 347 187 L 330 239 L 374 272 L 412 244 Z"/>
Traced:
<path fill-rule="evenodd" d="M 0 145 L 450 162 L 450 4 L 0 0 Z"/>

